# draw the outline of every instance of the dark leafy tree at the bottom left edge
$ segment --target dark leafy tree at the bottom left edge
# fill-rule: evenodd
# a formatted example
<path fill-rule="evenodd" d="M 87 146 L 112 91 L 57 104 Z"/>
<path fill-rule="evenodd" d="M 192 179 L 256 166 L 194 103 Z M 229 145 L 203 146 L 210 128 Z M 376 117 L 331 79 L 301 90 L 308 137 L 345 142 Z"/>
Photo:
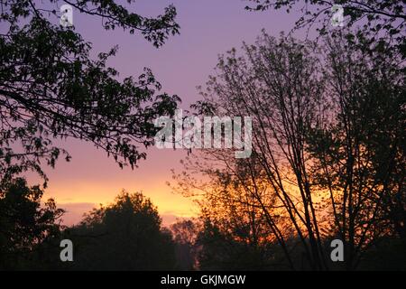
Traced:
<path fill-rule="evenodd" d="M 54 200 L 41 203 L 39 186 L 28 187 L 17 178 L 0 189 L 0 268 L 40 269 L 39 254 L 47 243 L 60 236 L 58 223 L 63 210 Z M 34 265 L 34 266 L 33 266 Z"/>

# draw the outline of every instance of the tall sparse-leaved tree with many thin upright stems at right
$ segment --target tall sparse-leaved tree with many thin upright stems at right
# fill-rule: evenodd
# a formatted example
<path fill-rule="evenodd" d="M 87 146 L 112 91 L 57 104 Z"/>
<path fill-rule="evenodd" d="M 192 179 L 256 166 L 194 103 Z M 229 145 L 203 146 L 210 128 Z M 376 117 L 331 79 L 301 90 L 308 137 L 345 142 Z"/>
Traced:
<path fill-rule="evenodd" d="M 244 44 L 245 55 L 233 49 L 219 58 L 195 106 L 198 114 L 211 108 L 219 117 L 253 117 L 253 154 L 237 160 L 230 150 L 202 151 L 187 170 L 208 182 L 185 172 L 180 189 L 200 190 L 209 216 L 224 211 L 222 226 L 233 221 L 232 210 L 262 211 L 292 268 L 291 232 L 314 270 L 331 267 L 326 242 L 341 238 L 351 270 L 374 242 L 395 234 L 385 211 L 404 216 L 401 56 L 390 45 L 355 49 L 363 44 L 331 37 L 320 46 L 263 33 Z M 235 206 L 238 200 L 247 204 Z"/>

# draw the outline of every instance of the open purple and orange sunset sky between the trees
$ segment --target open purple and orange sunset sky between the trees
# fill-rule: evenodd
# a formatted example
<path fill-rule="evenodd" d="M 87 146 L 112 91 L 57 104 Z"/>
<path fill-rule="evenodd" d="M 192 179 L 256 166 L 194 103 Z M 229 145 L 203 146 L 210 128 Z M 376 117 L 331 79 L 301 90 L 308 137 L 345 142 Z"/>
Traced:
<path fill-rule="evenodd" d="M 244 9 L 246 2 L 241 0 L 138 0 L 131 9 L 156 16 L 170 4 L 178 11 L 180 35 L 171 37 L 160 49 L 140 34 L 105 31 L 100 19 L 75 10 L 73 21 L 83 38 L 93 43 L 95 55 L 118 45 L 119 51 L 108 64 L 120 72 L 121 78 L 137 78 L 143 67 L 148 67 L 161 82 L 162 92 L 180 96 L 180 107 L 184 109 L 199 99 L 196 87 L 204 85 L 213 74 L 218 54 L 241 47 L 243 41 L 254 42 L 262 29 L 274 36 L 287 33 L 299 15 L 284 11 L 248 12 Z M 114 201 L 123 189 L 141 191 L 150 198 L 164 225 L 197 214 L 198 208 L 191 200 L 171 192 L 166 185 L 171 181 L 171 169 L 181 170 L 180 159 L 186 156 L 185 152 L 149 149 L 146 161 L 133 171 L 120 169 L 92 144 L 68 140 L 62 145 L 72 160 L 60 160 L 55 169 L 46 168 L 50 182 L 45 198 L 54 198 L 60 208 L 67 210 L 65 224 L 78 223 L 84 212 Z"/>

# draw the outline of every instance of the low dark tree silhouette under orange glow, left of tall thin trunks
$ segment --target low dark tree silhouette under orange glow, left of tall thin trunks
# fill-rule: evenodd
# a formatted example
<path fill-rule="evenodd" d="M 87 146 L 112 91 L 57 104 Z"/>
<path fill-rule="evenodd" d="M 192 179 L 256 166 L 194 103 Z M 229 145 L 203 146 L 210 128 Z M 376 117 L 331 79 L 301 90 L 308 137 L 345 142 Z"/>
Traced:
<path fill-rule="evenodd" d="M 240 212 L 243 213 L 243 212 Z M 202 217 L 203 226 L 198 232 L 198 268 L 200 270 L 270 270 L 286 269 L 279 244 L 272 234 L 250 231 L 251 225 L 244 220 L 235 224 L 235 219 L 216 219 L 210 212 Z M 264 228 L 266 229 L 266 228 Z"/>

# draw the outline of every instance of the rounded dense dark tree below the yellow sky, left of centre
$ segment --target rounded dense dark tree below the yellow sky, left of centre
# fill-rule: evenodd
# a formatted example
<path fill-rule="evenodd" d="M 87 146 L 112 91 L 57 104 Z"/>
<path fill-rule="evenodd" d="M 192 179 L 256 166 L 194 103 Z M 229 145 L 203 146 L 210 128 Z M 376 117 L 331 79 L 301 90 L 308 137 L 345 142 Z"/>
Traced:
<path fill-rule="evenodd" d="M 80 270 L 170 270 L 175 266 L 171 233 L 151 200 L 123 191 L 115 203 L 89 212 L 64 232 L 75 244 Z"/>

